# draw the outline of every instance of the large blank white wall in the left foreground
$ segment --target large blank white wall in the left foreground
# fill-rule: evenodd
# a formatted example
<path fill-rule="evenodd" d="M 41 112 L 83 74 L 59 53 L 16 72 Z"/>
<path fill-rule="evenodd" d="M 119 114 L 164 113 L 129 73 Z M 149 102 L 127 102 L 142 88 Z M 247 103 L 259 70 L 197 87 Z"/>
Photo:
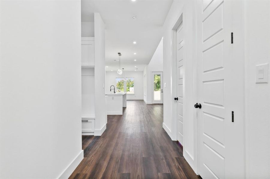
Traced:
<path fill-rule="evenodd" d="M 0 178 L 58 178 L 83 158 L 81 2 L 0 7 Z"/>

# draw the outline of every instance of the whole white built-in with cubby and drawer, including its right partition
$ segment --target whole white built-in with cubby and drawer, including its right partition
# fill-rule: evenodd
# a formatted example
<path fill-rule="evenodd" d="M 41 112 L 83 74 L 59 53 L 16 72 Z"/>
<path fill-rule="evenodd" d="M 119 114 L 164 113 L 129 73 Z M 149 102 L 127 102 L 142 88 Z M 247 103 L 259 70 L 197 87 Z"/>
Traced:
<path fill-rule="evenodd" d="M 82 23 L 81 40 L 82 135 L 102 135 L 107 124 L 105 24 L 99 13 L 94 13 L 93 23 Z"/>

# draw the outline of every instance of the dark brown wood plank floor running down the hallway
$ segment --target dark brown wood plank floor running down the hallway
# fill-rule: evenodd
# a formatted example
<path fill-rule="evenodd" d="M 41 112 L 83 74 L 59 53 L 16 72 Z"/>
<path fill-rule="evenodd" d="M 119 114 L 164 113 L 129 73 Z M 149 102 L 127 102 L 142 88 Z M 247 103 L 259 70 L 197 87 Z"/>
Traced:
<path fill-rule="evenodd" d="M 102 136 L 82 136 L 84 159 L 70 178 L 200 178 L 162 129 L 163 105 L 127 101 Z"/>

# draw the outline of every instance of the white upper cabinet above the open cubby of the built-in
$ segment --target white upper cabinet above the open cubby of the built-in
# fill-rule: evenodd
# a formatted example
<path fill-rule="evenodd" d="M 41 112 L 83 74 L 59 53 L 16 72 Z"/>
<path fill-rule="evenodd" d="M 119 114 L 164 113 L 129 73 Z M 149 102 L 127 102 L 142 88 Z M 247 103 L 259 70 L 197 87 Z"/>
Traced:
<path fill-rule="evenodd" d="M 82 66 L 95 66 L 94 37 L 82 37 Z"/>

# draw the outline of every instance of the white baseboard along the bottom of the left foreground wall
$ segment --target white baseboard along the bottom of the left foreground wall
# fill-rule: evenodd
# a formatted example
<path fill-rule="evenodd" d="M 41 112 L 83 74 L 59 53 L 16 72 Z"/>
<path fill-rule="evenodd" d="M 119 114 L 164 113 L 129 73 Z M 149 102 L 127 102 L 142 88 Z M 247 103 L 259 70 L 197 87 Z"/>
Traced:
<path fill-rule="evenodd" d="M 70 177 L 72 172 L 76 169 L 76 167 L 81 163 L 83 159 L 83 150 L 77 155 L 77 157 L 74 158 L 74 160 L 67 166 L 67 168 L 62 172 L 58 179 L 67 179 Z"/>

